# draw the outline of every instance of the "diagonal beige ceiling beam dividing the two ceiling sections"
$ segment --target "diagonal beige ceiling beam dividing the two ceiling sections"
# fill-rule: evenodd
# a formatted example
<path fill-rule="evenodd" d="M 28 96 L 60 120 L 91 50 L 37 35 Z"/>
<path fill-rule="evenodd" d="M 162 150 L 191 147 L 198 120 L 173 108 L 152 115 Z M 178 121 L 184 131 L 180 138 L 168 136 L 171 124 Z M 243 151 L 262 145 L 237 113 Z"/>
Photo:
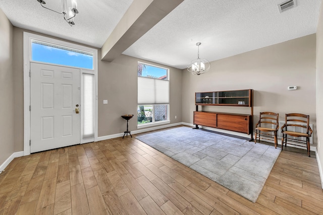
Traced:
<path fill-rule="evenodd" d="M 113 61 L 184 0 L 134 0 L 101 47 L 101 60 Z"/>

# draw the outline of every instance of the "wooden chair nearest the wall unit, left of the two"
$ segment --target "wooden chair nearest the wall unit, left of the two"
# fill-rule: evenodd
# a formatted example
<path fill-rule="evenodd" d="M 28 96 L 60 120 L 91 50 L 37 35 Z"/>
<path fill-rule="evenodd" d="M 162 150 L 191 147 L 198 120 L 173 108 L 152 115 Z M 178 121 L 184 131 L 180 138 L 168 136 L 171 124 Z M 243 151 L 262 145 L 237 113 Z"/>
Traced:
<path fill-rule="evenodd" d="M 254 132 L 254 143 L 262 139 L 274 140 L 275 149 L 277 149 L 277 131 L 279 127 L 278 113 L 260 112 L 260 119 L 256 124 Z"/>

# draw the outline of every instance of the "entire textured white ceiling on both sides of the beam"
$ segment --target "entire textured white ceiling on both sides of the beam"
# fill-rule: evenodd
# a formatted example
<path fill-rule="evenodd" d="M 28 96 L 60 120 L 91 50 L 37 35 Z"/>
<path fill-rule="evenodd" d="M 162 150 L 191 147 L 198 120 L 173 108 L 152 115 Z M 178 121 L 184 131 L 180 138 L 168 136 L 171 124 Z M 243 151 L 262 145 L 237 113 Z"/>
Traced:
<path fill-rule="evenodd" d="M 101 48 L 132 0 L 77 2 L 73 27 L 37 0 L 0 0 L 0 8 L 14 26 Z M 316 33 L 321 0 L 296 0 L 297 7 L 280 13 L 282 2 L 185 0 L 123 54 L 185 68 L 197 57 L 196 42 L 200 57 L 213 61 Z"/>

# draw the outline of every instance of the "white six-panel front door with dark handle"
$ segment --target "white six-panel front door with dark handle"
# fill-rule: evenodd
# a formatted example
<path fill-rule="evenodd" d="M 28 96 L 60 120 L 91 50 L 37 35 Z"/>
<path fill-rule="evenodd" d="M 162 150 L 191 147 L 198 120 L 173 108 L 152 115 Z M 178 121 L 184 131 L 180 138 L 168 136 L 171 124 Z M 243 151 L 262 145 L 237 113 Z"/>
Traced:
<path fill-rule="evenodd" d="M 80 69 L 30 63 L 30 152 L 80 144 Z"/>

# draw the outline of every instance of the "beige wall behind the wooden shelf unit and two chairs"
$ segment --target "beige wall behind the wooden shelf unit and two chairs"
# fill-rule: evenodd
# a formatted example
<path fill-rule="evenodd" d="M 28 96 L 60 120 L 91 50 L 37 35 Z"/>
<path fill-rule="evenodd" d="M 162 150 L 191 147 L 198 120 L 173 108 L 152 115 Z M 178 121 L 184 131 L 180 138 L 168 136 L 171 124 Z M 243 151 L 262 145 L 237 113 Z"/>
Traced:
<path fill-rule="evenodd" d="M 253 124 L 262 111 L 279 113 L 280 120 L 285 120 L 285 113 L 304 113 L 310 115 L 316 137 L 315 40 L 312 34 L 212 61 L 210 71 L 200 76 L 183 70 L 183 121 L 193 123 L 195 92 L 253 89 Z M 288 86 L 298 89 L 290 91 Z M 245 107 L 204 109 L 250 113 L 250 108 Z"/>

